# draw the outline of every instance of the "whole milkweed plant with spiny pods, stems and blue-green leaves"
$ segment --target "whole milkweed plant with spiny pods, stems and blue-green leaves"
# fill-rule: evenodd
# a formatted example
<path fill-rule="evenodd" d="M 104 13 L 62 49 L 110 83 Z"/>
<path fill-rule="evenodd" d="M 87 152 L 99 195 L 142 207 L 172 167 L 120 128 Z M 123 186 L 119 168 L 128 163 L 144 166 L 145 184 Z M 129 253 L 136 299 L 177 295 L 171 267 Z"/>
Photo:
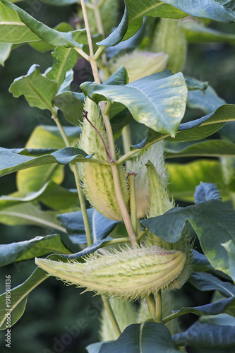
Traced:
<path fill-rule="evenodd" d="M 76 4 L 73 27 L 56 28 L 16 2 L 0 1 L 1 63 L 25 43 L 52 52 L 52 67 L 33 64 L 9 88 L 47 109 L 51 126 L 37 126 L 25 147 L 0 149 L 0 174 L 16 172 L 18 188 L 0 198 L 2 222 L 37 213 L 55 234 L 1 245 L 1 266 L 37 266 L 1 294 L 1 329 L 20 325 L 28 294 L 54 276 L 102 298 L 90 353 L 234 352 L 235 105 L 183 75 L 188 43 L 235 43 L 213 29 L 234 28 L 234 1 L 42 0 Z M 71 90 L 80 58 L 92 80 Z M 172 162 L 179 157 L 191 162 Z M 76 192 L 60 185 L 66 164 Z M 184 285 L 215 295 L 189 307 Z M 188 313 L 194 323 L 182 329 Z"/>

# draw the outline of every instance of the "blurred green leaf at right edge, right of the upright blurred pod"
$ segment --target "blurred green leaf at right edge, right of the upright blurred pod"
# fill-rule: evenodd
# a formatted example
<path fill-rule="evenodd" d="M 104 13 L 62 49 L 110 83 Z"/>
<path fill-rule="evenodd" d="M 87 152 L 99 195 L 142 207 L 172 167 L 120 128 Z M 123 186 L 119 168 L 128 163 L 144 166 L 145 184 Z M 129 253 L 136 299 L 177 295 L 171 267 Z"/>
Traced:
<path fill-rule="evenodd" d="M 196 20 L 183 20 L 181 27 L 183 28 L 187 42 L 189 43 L 226 42 L 235 44 L 235 35 L 207 28 Z"/>

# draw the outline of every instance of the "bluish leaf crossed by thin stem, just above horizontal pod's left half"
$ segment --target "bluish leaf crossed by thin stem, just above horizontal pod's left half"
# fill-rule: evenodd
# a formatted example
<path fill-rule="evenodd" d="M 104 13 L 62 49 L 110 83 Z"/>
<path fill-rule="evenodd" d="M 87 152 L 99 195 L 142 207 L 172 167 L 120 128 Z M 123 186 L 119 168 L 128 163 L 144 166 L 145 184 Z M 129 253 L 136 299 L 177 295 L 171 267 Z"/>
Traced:
<path fill-rule="evenodd" d="M 57 215 L 57 218 L 60 220 L 62 227 L 66 228 L 68 237 L 73 244 L 85 244 L 87 242 L 83 213 L 81 211 L 63 213 Z M 88 209 L 88 219 L 94 243 L 107 237 L 116 225 L 119 224 L 117 221 L 108 220 L 107 217 L 98 213 L 94 208 Z"/>

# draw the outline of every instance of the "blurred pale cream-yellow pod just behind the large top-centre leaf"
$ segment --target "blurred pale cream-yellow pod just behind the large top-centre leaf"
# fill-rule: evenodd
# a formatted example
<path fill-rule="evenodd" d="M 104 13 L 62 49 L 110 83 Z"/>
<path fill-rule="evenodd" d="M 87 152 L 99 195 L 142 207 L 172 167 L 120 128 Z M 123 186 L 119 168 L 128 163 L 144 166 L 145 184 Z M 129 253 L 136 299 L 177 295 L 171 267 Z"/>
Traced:
<path fill-rule="evenodd" d="M 109 61 L 109 71 L 114 73 L 121 65 L 126 68 L 129 83 L 149 76 L 152 73 L 163 71 L 167 66 L 168 55 L 165 53 L 133 52 L 119 56 Z"/>

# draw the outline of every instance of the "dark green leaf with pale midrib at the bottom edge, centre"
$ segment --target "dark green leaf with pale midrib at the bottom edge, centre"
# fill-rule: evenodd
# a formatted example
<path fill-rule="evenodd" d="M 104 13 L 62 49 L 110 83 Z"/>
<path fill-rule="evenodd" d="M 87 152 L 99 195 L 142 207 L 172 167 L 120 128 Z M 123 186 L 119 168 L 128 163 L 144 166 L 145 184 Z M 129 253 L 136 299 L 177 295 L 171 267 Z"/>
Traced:
<path fill-rule="evenodd" d="M 160 323 L 145 322 L 128 326 L 115 341 L 104 343 L 99 353 L 174 353 L 171 334 Z"/>

